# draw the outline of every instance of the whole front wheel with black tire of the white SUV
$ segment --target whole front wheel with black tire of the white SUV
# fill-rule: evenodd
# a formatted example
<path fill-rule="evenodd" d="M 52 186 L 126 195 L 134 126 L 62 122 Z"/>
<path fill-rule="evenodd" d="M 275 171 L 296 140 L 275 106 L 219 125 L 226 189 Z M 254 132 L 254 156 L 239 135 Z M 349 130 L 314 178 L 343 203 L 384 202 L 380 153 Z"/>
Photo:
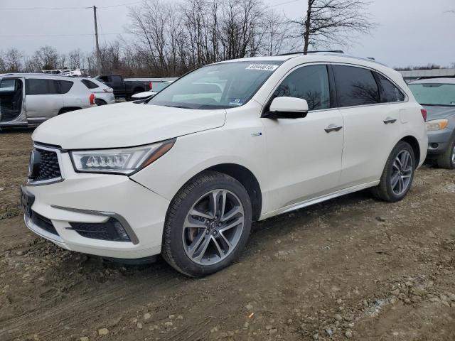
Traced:
<path fill-rule="evenodd" d="M 210 201 L 210 197 L 218 200 Z M 224 215 L 214 209 L 213 202 L 217 201 L 218 208 L 225 207 Z M 190 215 L 190 211 L 198 214 Z M 250 235 L 251 220 L 245 188 L 229 175 L 205 171 L 188 180 L 173 197 L 164 224 L 161 256 L 187 276 L 213 274 L 240 256 Z"/>

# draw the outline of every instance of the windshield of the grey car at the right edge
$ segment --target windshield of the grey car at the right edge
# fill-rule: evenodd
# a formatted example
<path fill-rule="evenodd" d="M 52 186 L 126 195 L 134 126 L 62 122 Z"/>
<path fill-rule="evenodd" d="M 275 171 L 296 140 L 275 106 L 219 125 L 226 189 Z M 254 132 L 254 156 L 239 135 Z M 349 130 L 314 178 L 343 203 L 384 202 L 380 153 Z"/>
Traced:
<path fill-rule="evenodd" d="M 455 84 L 410 84 L 410 90 L 419 104 L 455 106 Z"/>

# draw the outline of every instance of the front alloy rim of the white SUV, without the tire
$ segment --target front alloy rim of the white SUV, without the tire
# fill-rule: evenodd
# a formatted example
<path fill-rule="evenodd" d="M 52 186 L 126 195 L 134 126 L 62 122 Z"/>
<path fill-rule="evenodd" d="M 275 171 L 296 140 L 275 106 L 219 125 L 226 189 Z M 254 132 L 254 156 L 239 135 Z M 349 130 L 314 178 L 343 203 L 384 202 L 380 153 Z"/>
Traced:
<path fill-rule="evenodd" d="M 200 196 L 183 223 L 186 255 L 200 265 L 223 261 L 237 246 L 245 224 L 242 202 L 229 190 Z"/>

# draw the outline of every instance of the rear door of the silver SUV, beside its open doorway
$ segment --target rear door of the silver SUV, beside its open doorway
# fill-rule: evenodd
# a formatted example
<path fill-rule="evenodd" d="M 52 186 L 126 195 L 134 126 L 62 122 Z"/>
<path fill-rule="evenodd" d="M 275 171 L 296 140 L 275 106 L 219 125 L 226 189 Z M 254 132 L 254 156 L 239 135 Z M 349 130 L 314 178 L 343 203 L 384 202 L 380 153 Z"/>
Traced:
<path fill-rule="evenodd" d="M 26 112 L 29 121 L 44 121 L 58 114 L 63 107 L 58 80 L 26 79 Z"/>

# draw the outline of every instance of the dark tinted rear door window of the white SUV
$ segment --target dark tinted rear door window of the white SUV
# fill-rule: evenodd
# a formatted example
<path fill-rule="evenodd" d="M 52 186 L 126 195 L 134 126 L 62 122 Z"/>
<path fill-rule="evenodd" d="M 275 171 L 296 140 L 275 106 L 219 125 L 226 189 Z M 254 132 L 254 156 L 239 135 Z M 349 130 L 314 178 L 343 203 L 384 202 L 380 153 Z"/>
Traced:
<path fill-rule="evenodd" d="M 370 70 L 333 65 L 340 107 L 380 103 L 378 84 Z"/>

